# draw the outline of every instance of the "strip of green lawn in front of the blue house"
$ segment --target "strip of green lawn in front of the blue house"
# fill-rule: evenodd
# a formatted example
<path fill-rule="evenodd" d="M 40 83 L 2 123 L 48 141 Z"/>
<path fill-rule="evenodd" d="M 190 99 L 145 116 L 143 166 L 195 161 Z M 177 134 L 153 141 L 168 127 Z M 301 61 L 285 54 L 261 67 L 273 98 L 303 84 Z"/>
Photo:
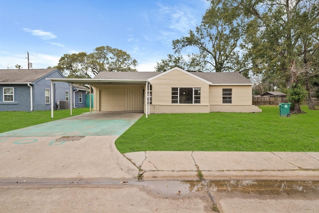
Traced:
<path fill-rule="evenodd" d="M 90 108 L 72 109 L 72 116 L 89 111 Z M 0 133 L 67 118 L 70 117 L 70 110 L 56 110 L 53 115 L 52 119 L 51 111 L 0 112 Z"/>

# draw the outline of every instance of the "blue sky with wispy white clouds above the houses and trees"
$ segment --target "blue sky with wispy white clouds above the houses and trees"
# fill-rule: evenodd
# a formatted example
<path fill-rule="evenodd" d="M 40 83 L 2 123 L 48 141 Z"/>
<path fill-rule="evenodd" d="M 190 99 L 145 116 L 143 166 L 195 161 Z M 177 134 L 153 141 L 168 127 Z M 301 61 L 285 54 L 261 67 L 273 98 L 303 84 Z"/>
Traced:
<path fill-rule="evenodd" d="M 201 21 L 207 0 L 2 0 L 0 69 L 55 66 L 63 54 L 109 45 L 154 71 L 171 41 Z M 185 54 L 194 49 L 185 49 Z"/>

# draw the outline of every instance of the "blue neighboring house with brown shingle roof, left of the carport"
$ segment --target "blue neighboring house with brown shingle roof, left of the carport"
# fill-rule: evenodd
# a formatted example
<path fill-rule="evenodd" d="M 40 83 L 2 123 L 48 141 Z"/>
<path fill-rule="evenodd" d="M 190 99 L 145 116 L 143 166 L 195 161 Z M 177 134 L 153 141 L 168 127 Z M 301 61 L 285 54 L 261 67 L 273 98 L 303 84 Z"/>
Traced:
<path fill-rule="evenodd" d="M 65 78 L 58 69 L 1 69 L 0 111 L 36 111 L 51 109 L 51 81 Z M 67 82 L 54 82 L 53 106 L 69 97 Z"/>

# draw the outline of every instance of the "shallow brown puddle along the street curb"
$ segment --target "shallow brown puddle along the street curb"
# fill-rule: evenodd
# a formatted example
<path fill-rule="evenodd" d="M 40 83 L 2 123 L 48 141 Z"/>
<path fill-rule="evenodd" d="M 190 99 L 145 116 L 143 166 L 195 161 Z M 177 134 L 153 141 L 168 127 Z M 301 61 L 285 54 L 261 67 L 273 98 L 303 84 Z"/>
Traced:
<path fill-rule="evenodd" d="M 319 192 L 319 181 L 261 181 L 261 180 L 229 180 L 229 181 L 142 181 L 133 185 L 148 186 L 162 193 L 187 194 L 191 192 L 255 192 L 268 193 L 307 193 Z"/>

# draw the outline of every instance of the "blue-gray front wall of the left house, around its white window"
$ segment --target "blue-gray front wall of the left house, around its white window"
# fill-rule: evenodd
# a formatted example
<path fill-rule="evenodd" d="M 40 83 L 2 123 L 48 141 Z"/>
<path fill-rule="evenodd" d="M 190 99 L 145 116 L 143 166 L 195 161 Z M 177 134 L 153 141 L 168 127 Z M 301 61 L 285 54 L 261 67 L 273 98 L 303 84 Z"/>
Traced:
<path fill-rule="evenodd" d="M 13 102 L 3 102 L 3 88 L 14 88 Z M 0 85 L 0 111 L 30 111 L 30 87 L 27 85 Z"/>

